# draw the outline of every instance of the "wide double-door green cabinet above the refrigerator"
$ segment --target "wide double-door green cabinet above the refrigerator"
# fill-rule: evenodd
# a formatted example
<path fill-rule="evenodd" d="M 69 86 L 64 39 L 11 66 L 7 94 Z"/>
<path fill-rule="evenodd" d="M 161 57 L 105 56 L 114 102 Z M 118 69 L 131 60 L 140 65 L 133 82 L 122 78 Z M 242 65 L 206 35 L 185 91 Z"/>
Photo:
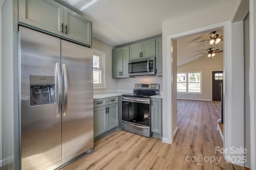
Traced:
<path fill-rule="evenodd" d="M 92 22 L 54 0 L 19 0 L 19 24 L 92 45 Z"/>

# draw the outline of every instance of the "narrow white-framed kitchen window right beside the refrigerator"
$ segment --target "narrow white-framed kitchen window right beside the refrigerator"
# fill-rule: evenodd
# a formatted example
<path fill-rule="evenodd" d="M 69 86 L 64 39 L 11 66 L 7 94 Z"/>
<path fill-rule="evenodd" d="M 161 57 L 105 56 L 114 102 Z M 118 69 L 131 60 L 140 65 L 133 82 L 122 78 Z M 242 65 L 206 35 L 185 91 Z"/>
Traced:
<path fill-rule="evenodd" d="M 93 88 L 106 88 L 106 52 L 93 49 Z"/>

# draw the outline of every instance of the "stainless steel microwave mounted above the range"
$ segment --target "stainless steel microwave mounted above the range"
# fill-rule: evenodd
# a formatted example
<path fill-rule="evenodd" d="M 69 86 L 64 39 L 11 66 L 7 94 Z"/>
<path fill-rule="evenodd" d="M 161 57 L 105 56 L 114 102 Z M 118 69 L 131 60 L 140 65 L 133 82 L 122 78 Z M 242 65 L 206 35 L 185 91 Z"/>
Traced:
<path fill-rule="evenodd" d="M 128 75 L 130 77 L 155 75 L 155 57 L 128 61 Z"/>

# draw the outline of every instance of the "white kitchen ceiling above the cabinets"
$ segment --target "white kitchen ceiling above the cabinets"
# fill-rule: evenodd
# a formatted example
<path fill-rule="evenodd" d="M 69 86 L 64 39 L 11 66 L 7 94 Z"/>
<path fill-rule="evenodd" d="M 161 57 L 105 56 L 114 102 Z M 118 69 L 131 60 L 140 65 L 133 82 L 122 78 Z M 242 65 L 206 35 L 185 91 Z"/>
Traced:
<path fill-rule="evenodd" d="M 84 12 L 92 36 L 116 46 L 162 34 L 162 23 L 230 0 L 58 0 Z M 229 10 L 229 9 L 227 9 Z M 202 14 L 205 15 L 205 14 Z M 209 16 L 210 19 L 211 16 Z M 214 16 L 212 16 L 214 17 Z"/>

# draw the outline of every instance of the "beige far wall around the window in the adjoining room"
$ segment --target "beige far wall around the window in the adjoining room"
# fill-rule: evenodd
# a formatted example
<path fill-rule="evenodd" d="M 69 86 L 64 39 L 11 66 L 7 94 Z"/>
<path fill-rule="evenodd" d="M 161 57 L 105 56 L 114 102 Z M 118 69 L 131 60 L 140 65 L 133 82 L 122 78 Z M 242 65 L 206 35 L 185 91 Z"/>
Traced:
<path fill-rule="evenodd" d="M 179 48 L 179 47 L 178 47 Z M 179 55 L 178 55 L 179 57 Z M 196 99 L 196 100 L 212 100 L 211 90 L 211 71 L 223 70 L 223 53 L 216 53 L 212 60 L 209 57 L 202 57 L 190 63 L 186 63 L 177 68 L 177 72 L 185 71 L 203 71 L 203 94 L 179 94 L 178 98 L 182 99 Z"/>

